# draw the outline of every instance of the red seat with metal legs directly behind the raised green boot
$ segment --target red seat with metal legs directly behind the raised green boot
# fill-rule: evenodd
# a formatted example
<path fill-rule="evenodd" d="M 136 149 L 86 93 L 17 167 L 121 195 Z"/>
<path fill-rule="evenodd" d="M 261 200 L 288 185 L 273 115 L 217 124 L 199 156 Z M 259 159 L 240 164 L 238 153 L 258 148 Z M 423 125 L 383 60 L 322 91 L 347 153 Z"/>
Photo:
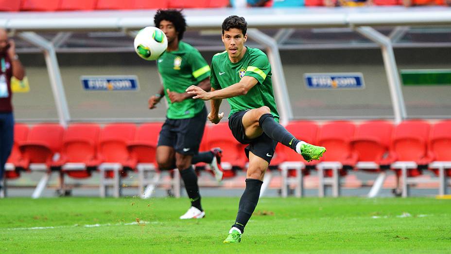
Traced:
<path fill-rule="evenodd" d="M 316 144 L 316 134 L 318 126 L 311 121 L 293 121 L 290 122 L 286 129 L 297 139 L 310 144 Z M 303 195 L 303 177 L 310 174 L 309 167 L 316 164 L 315 161 L 307 163 L 301 155 L 296 153 L 290 147 L 278 144 L 276 147 L 278 157 L 281 157 L 283 163 L 280 163 L 281 170 L 281 194 L 282 197 L 288 195 L 288 185 L 295 185 L 295 195 L 301 197 Z M 272 163 L 272 162 L 271 162 Z M 307 168 L 306 168 L 307 166 Z"/>

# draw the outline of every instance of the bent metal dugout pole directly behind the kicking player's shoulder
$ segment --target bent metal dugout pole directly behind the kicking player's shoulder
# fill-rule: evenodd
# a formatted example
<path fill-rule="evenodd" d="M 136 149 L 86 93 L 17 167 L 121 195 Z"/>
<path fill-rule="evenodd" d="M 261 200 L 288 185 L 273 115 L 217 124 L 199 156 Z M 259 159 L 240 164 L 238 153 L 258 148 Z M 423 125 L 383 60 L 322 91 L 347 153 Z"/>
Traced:
<path fill-rule="evenodd" d="M 293 112 L 291 110 L 290 97 L 288 95 L 285 74 L 283 73 L 277 42 L 272 37 L 267 36 L 255 28 L 248 29 L 247 35 L 257 43 L 264 45 L 267 49 L 267 55 L 273 73 L 274 95 L 276 96 L 280 114 L 280 124 L 287 125 L 290 119 L 293 119 Z"/>

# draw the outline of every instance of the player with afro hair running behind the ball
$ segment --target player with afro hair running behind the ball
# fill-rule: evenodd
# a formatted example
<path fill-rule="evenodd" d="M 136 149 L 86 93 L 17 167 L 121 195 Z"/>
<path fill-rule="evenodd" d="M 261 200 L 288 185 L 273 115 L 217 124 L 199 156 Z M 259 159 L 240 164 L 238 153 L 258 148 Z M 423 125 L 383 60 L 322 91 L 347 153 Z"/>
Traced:
<path fill-rule="evenodd" d="M 191 164 L 209 163 L 216 180 L 221 181 L 222 151 L 213 148 L 198 153 L 207 121 L 207 109 L 203 101 L 193 100 L 193 95 L 185 90 L 193 85 L 209 91 L 210 67 L 199 51 L 181 41 L 186 22 L 180 11 L 158 10 L 154 22 L 168 38 L 168 48 L 157 60 L 163 87 L 149 98 L 149 109 L 154 109 L 163 96 L 169 104 L 167 119 L 158 137 L 156 162 L 160 169 L 177 167 L 185 182 L 191 207 L 180 218 L 204 218 L 197 175 Z"/>

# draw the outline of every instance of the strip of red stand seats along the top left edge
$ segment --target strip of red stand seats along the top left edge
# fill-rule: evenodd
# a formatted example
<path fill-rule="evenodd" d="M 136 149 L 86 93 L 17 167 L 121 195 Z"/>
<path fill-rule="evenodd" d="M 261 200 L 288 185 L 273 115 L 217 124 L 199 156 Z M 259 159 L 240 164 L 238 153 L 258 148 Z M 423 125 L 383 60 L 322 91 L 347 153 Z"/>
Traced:
<path fill-rule="evenodd" d="M 0 0 L 0 11 L 92 11 L 221 8 L 228 0 Z"/>

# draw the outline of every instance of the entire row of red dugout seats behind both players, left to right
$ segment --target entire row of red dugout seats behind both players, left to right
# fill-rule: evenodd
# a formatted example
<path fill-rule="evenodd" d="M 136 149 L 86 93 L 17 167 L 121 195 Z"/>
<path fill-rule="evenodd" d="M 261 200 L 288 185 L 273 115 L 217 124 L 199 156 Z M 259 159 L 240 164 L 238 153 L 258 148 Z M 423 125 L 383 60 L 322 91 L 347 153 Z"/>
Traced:
<path fill-rule="evenodd" d="M 104 128 L 97 124 L 73 124 L 67 129 L 57 124 L 40 124 L 31 129 L 17 124 L 8 163 L 23 170 L 27 170 L 30 163 L 46 163 L 49 168 L 58 168 L 65 163 L 85 163 L 89 169 L 103 162 L 121 163 L 125 168 L 135 169 L 137 163 L 155 163 L 160 128 L 161 123 L 139 127 L 109 124 Z M 361 125 L 334 121 L 322 126 L 310 121 L 295 121 L 286 128 L 299 139 L 327 147 L 328 151 L 319 162 L 342 163 L 341 175 L 345 175 L 348 168 L 358 167 L 359 162 L 373 162 L 383 168 L 399 161 L 412 161 L 420 166 L 433 161 L 451 161 L 450 120 L 434 125 L 412 120 L 397 126 L 386 121 L 368 121 Z M 225 168 L 245 168 L 245 145 L 236 142 L 227 123 L 206 127 L 200 149 L 216 146 L 224 150 Z M 54 159 L 56 153 L 60 154 L 57 160 Z M 286 161 L 300 161 L 300 156 L 278 144 L 271 166 Z M 306 163 L 307 168 L 316 163 Z M 90 176 L 89 170 L 69 171 L 68 174 L 79 178 Z M 420 169 L 409 171 L 409 176 L 420 174 Z M 451 169 L 447 175 L 451 176 Z M 8 178 L 18 176 L 18 170 L 7 172 Z"/>

